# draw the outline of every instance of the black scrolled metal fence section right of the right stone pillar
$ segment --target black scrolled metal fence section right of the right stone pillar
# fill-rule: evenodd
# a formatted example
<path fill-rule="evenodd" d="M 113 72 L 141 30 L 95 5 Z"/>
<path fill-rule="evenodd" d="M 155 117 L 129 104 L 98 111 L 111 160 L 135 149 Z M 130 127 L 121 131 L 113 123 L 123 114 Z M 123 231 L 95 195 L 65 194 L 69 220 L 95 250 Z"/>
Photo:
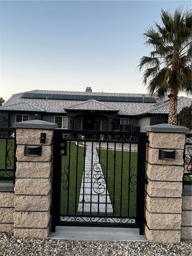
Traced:
<path fill-rule="evenodd" d="M 183 187 L 191 186 L 191 152 L 192 152 L 192 136 L 191 133 L 185 134 L 185 145 L 184 145 L 184 174 L 183 174 Z"/>

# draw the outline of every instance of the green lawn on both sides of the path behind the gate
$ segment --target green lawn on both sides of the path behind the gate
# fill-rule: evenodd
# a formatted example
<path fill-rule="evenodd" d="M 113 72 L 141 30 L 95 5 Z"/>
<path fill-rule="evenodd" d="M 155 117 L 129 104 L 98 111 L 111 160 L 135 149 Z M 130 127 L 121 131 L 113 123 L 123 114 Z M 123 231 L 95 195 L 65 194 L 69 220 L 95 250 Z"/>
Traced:
<path fill-rule="evenodd" d="M 69 159 L 69 142 L 67 146 L 67 156 L 62 156 L 62 172 L 61 172 L 61 213 L 74 214 L 77 212 L 79 203 L 79 194 L 83 175 L 84 164 L 84 147 L 70 143 L 70 159 Z M 114 180 L 114 150 L 101 149 L 100 162 L 103 168 L 104 177 L 107 183 L 107 189 L 111 202 L 114 203 L 115 215 L 135 215 L 136 211 L 136 176 L 137 175 L 137 152 L 131 152 L 131 170 L 129 173 L 129 152 L 116 151 L 115 160 L 115 180 Z M 70 169 L 69 167 L 70 160 Z M 123 163 L 123 165 L 122 165 Z M 107 166 L 108 164 L 108 166 Z M 77 166 L 77 172 L 76 172 Z M 105 166 L 105 167 L 104 167 Z M 107 170 L 106 170 L 107 167 Z M 131 176 L 131 183 L 129 182 Z M 68 179 L 67 179 L 68 178 Z M 122 190 L 121 190 L 122 184 Z M 130 189 L 129 189 L 130 188 Z M 76 198 L 75 198 L 76 197 Z M 128 199 L 129 198 L 129 199 Z M 68 200 L 68 206 L 67 206 Z M 122 205 L 122 207 L 121 207 Z M 68 211 L 67 211 L 68 208 Z"/>

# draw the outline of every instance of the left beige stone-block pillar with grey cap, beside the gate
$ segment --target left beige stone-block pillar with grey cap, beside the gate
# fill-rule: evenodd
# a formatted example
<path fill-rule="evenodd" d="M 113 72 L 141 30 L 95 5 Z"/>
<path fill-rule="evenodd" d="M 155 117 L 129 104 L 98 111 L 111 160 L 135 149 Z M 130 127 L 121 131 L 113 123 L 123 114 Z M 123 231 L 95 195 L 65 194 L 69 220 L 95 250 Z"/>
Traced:
<path fill-rule="evenodd" d="M 52 187 L 52 137 L 56 124 L 31 120 L 16 127 L 14 236 L 46 238 L 49 233 Z M 45 143 L 40 143 L 46 133 Z M 41 156 L 24 155 L 25 145 L 41 145 Z"/>

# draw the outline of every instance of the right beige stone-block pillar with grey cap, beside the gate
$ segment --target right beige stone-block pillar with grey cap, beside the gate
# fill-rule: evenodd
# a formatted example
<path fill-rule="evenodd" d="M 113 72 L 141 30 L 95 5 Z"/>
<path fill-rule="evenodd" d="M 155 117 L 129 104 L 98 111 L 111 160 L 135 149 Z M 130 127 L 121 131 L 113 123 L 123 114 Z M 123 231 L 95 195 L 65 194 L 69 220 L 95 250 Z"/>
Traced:
<path fill-rule="evenodd" d="M 188 128 L 152 125 L 146 128 L 145 234 L 149 242 L 178 243 L 181 238 L 182 177 Z M 159 149 L 175 149 L 175 160 L 159 159 Z"/>

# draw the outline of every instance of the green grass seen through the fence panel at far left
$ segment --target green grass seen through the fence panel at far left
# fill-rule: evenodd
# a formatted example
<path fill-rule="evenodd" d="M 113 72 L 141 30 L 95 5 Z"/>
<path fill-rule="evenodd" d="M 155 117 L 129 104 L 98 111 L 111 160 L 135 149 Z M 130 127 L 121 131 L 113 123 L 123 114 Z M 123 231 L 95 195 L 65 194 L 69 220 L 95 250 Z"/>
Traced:
<path fill-rule="evenodd" d="M 6 159 L 6 141 L 7 141 L 7 154 L 9 158 Z M 0 140 L 0 169 L 13 169 L 14 167 L 14 140 Z M 9 174 L 9 175 L 8 175 Z M 11 180 L 2 180 L 3 177 L 13 176 L 13 171 L 1 171 L 0 182 L 13 182 Z"/>

